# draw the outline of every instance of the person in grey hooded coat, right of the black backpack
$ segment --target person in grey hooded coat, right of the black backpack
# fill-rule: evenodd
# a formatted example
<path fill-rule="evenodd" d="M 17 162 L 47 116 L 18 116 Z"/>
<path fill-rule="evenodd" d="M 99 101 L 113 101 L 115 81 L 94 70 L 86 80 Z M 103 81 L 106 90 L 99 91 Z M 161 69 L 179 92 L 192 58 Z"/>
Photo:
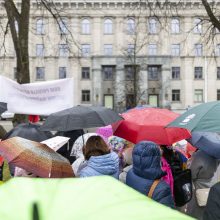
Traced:
<path fill-rule="evenodd" d="M 218 167 L 218 160 L 198 150 L 192 155 L 188 164 L 192 173 L 194 189 L 192 200 L 187 204 L 186 213 L 194 218 L 202 219 L 205 205 L 199 206 L 196 191 L 210 188 L 217 182 L 214 174 Z"/>

